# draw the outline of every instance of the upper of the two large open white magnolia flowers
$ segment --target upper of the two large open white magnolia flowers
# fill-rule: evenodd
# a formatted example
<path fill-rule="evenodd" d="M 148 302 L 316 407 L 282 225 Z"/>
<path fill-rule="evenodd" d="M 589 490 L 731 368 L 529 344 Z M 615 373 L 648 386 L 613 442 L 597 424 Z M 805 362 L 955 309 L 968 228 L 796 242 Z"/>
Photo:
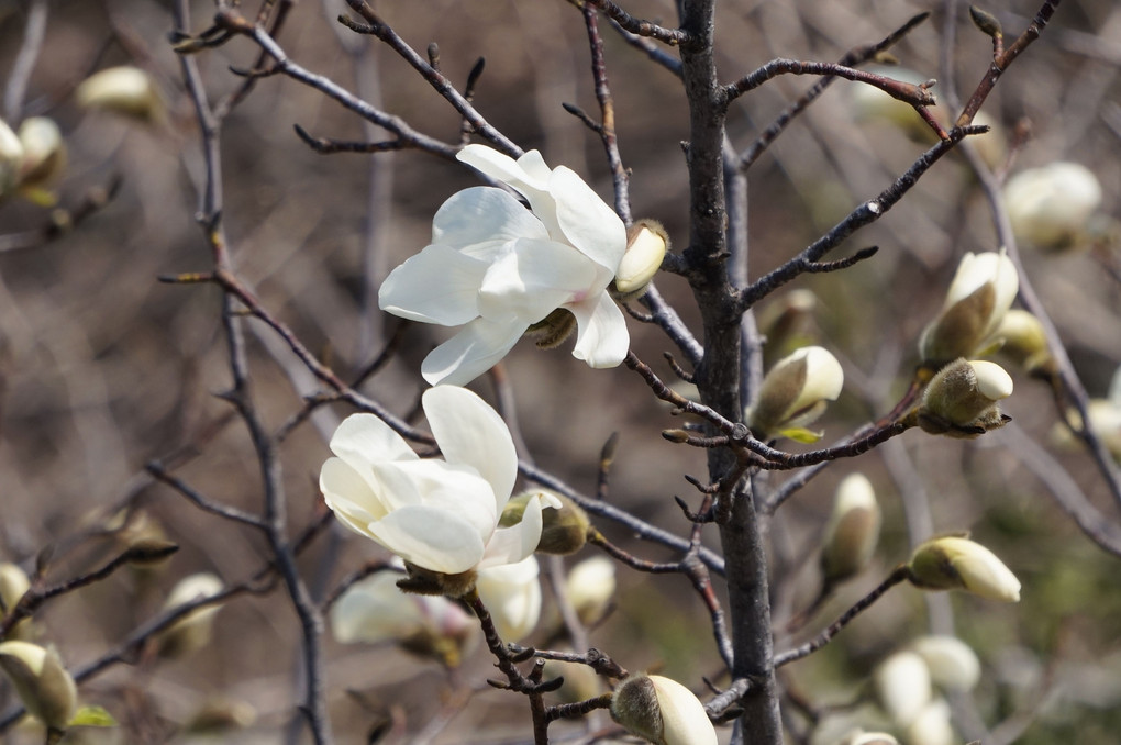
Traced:
<path fill-rule="evenodd" d="M 549 170 L 536 150 L 515 160 L 469 145 L 456 157 L 530 208 L 498 188 L 460 192 L 433 217 L 432 244 L 381 286 L 378 302 L 388 313 L 464 326 L 425 358 L 425 380 L 470 382 L 557 308 L 575 316 L 576 358 L 592 367 L 622 362 L 627 324 L 606 291 L 627 248 L 619 216 L 571 169 Z"/>

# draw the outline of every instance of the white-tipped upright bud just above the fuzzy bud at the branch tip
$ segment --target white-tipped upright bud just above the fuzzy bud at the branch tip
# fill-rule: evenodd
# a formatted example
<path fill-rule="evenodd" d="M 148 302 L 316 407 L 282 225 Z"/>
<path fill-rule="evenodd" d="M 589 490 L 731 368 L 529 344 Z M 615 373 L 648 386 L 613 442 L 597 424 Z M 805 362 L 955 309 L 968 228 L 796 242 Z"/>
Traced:
<path fill-rule="evenodd" d="M 942 313 L 919 337 L 923 363 L 937 370 L 982 354 L 1019 289 L 1016 266 L 1003 251 L 962 257 Z"/>

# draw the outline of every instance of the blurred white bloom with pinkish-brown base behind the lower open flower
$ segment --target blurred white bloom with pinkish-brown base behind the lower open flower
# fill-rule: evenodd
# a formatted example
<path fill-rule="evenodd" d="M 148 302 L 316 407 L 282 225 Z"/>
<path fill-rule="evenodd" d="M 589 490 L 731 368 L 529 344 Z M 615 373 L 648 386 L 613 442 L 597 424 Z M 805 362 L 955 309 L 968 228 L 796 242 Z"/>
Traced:
<path fill-rule="evenodd" d="M 331 631 L 343 644 L 395 642 L 414 654 L 458 667 L 478 641 L 478 624 L 446 597 L 397 587 L 400 575 L 382 571 L 354 583 L 331 608 Z"/>

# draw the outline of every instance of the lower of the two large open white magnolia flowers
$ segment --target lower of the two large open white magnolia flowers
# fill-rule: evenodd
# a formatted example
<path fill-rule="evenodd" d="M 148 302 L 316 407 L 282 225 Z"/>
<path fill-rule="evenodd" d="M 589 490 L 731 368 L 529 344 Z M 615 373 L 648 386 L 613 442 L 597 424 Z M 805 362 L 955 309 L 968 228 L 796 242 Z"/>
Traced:
<path fill-rule="evenodd" d="M 450 575 L 521 561 L 537 548 L 547 494 L 521 522 L 499 528 L 518 476 L 510 431 L 471 391 L 437 385 L 421 398 L 444 455 L 421 459 L 373 415 L 348 417 L 331 438 L 336 457 L 319 473 L 335 516 L 406 561 Z"/>

